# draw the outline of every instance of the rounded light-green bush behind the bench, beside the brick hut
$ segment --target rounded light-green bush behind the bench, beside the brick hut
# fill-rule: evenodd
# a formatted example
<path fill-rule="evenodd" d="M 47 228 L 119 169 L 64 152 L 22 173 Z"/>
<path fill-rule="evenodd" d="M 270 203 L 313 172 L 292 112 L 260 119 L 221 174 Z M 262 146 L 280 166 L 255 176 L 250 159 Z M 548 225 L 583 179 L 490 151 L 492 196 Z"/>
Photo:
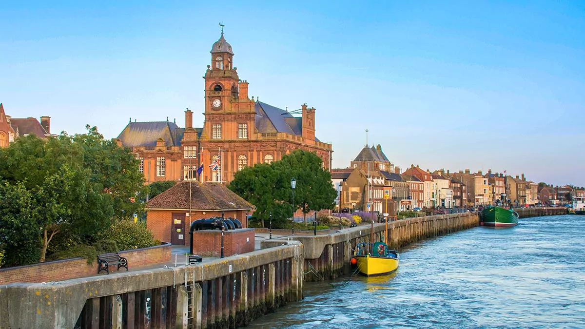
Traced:
<path fill-rule="evenodd" d="M 100 239 L 115 241 L 120 250 L 146 248 L 154 245 L 152 232 L 146 224 L 130 220 L 118 220 L 98 234 Z"/>

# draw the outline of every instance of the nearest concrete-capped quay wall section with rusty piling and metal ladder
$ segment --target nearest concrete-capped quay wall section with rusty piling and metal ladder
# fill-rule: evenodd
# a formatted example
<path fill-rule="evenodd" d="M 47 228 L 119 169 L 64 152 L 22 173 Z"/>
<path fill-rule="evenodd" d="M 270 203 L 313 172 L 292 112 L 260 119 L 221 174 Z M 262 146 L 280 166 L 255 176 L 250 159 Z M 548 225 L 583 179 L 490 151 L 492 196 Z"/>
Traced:
<path fill-rule="evenodd" d="M 236 328 L 302 299 L 299 242 L 197 265 L 0 286 L 0 329 Z"/>

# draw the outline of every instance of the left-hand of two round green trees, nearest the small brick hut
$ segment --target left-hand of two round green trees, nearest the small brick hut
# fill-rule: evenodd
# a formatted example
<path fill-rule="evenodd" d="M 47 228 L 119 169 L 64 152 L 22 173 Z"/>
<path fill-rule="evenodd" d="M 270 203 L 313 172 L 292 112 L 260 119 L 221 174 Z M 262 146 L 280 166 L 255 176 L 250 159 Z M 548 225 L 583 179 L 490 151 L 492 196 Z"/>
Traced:
<path fill-rule="evenodd" d="M 262 227 L 272 214 L 273 222 L 280 226 L 281 221 L 287 217 L 292 207 L 287 203 L 287 189 L 282 184 L 279 172 L 273 165 L 259 163 L 253 167 L 245 167 L 235 174 L 228 188 L 252 203 L 256 210 L 254 217 L 260 220 Z"/>

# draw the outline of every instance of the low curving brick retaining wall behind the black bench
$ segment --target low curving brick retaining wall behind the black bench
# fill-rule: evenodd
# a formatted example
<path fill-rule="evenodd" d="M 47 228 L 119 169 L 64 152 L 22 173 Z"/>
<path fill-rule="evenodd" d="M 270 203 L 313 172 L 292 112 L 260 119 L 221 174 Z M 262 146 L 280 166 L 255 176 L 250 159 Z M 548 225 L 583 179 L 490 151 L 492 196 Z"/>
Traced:
<path fill-rule="evenodd" d="M 171 261 L 171 245 L 160 245 L 150 248 L 121 251 L 120 255 L 128 259 L 128 268 L 137 268 Z M 116 272 L 112 266 L 111 272 Z M 122 269 L 124 272 L 126 269 Z M 33 265 L 17 266 L 0 269 L 0 285 L 13 282 L 56 282 L 77 277 L 94 276 L 98 273 L 98 262 L 91 265 L 87 259 L 71 258 L 62 261 L 44 262 Z M 105 275 L 101 272 L 100 275 Z"/>

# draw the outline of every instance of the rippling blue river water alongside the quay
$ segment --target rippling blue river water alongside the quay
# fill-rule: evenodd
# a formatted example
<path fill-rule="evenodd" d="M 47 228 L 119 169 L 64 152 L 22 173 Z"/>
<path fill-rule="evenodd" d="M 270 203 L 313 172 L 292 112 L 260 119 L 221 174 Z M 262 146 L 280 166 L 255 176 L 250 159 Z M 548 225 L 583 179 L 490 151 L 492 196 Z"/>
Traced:
<path fill-rule="evenodd" d="M 304 288 L 248 328 L 585 328 L 585 216 L 456 232 L 402 250 L 393 275 Z"/>

